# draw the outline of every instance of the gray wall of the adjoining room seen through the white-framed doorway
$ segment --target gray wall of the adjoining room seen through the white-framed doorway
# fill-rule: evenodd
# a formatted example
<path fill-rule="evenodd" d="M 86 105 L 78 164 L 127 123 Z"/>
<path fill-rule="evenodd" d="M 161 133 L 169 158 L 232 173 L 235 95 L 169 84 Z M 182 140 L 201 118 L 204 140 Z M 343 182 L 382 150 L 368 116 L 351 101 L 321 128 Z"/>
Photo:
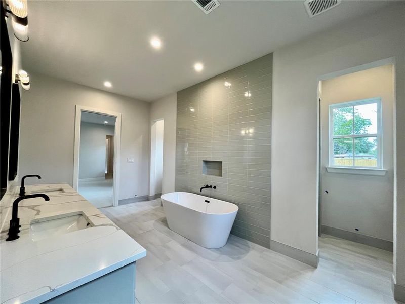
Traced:
<path fill-rule="evenodd" d="M 105 177 L 105 138 L 114 126 L 82 122 L 80 125 L 79 178 Z"/>

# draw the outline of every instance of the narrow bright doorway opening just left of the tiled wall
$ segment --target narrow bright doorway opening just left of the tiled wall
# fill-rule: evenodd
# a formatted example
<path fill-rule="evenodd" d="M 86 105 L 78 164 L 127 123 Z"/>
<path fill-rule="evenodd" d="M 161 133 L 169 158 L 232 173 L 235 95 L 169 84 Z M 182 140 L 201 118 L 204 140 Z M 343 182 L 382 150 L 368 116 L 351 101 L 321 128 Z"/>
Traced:
<path fill-rule="evenodd" d="M 160 198 L 163 189 L 163 129 L 163 119 L 152 122 L 149 200 Z"/>

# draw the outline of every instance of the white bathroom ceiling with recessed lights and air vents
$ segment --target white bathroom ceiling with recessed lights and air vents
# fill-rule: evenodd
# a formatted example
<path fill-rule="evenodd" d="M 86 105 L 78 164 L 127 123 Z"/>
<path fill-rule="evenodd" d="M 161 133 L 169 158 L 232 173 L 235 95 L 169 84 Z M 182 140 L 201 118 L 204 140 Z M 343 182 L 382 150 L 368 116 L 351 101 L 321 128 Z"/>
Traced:
<path fill-rule="evenodd" d="M 343 1 L 313 18 L 303 1 L 220 3 L 205 15 L 191 0 L 29 1 L 23 66 L 153 101 L 389 1 Z M 159 51 L 149 45 L 154 35 L 163 41 Z M 203 72 L 194 71 L 196 61 L 204 63 Z"/>

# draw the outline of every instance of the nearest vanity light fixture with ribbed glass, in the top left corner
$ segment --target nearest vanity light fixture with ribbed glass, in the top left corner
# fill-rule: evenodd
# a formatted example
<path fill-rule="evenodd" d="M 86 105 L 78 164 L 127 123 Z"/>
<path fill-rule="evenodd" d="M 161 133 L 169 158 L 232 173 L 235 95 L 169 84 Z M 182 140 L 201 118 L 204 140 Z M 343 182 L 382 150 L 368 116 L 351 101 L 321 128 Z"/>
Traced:
<path fill-rule="evenodd" d="M 5 9 L 6 13 L 11 14 L 14 36 L 19 41 L 28 41 L 28 10 L 27 0 L 8 0 L 9 9 Z M 9 17 L 5 16 L 6 18 Z"/>

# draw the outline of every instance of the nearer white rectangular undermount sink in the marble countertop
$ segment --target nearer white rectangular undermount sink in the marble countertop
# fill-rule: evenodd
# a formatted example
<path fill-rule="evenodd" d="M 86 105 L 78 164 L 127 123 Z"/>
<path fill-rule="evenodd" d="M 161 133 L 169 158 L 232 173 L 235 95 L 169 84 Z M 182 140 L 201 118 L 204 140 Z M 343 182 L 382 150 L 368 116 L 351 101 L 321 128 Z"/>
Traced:
<path fill-rule="evenodd" d="M 32 241 L 39 241 L 91 226 L 93 223 L 83 213 L 66 213 L 32 220 L 30 234 Z"/>

